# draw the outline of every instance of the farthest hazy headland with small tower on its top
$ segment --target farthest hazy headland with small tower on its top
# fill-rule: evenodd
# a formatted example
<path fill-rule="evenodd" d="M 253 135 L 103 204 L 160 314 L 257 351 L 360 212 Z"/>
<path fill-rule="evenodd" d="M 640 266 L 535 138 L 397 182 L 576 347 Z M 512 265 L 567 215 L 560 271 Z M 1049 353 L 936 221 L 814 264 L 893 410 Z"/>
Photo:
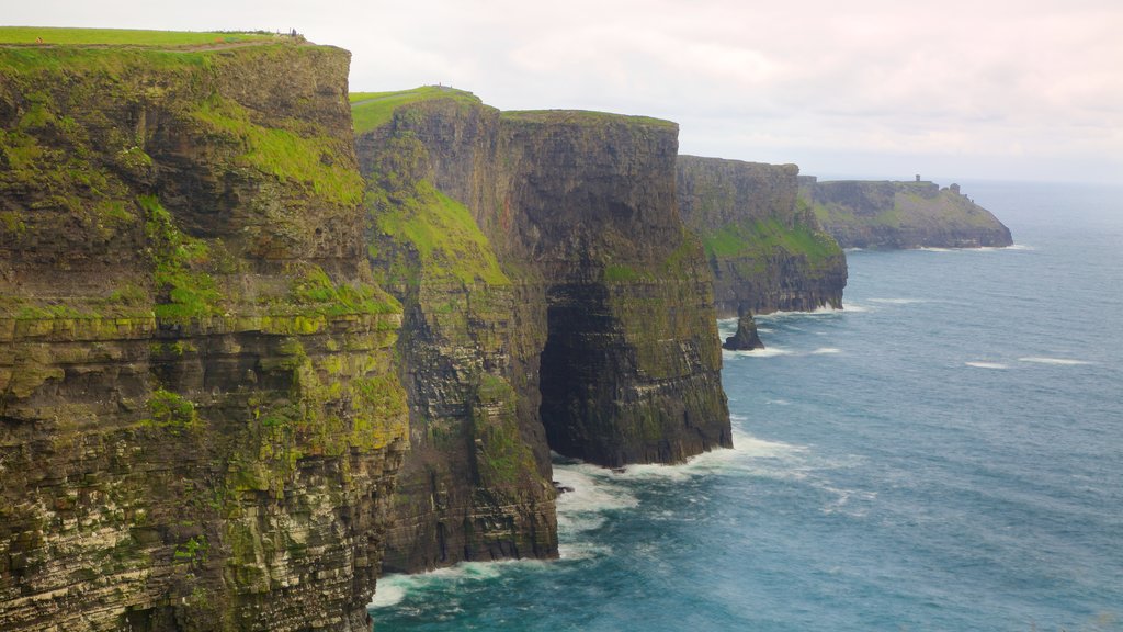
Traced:
<path fill-rule="evenodd" d="M 818 182 L 801 178 L 800 199 L 842 247 L 980 247 L 1013 244 L 1010 229 L 958 184 Z"/>

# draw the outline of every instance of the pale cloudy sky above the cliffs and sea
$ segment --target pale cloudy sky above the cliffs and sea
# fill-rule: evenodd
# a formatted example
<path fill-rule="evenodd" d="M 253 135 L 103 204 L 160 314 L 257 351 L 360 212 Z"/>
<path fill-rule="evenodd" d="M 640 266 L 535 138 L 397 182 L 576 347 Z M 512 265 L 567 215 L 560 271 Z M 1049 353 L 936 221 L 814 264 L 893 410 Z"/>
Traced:
<path fill-rule="evenodd" d="M 679 124 L 822 178 L 1123 184 L 1120 0 L 0 0 L 0 24 L 295 28 L 350 89 Z"/>

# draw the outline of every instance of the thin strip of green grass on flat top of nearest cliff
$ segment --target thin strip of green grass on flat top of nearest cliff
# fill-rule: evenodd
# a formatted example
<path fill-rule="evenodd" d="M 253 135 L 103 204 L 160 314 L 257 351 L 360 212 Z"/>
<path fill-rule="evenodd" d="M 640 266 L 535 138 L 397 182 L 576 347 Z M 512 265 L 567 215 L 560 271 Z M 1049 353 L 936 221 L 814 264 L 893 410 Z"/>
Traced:
<path fill-rule="evenodd" d="M 243 42 L 272 42 L 272 33 L 220 33 L 134 30 L 121 28 L 57 28 L 39 26 L 0 26 L 0 44 L 43 44 L 58 46 L 152 46 L 183 47 Z"/>

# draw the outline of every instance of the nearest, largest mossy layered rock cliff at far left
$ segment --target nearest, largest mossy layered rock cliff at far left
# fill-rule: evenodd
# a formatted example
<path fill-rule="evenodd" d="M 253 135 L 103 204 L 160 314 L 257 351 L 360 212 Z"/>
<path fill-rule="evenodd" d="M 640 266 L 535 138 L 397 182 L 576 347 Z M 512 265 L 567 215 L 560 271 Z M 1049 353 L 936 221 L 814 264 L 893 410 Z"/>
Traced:
<path fill-rule="evenodd" d="M 0 49 L 0 629 L 364 629 L 408 417 L 348 61 Z"/>

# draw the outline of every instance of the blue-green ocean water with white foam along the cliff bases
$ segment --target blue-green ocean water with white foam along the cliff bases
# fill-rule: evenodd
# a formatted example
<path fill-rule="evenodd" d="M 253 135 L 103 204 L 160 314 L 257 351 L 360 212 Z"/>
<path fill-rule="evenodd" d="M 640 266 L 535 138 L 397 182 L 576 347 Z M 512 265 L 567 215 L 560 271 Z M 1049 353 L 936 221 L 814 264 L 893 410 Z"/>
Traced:
<path fill-rule="evenodd" d="M 385 577 L 375 629 L 1123 630 L 1123 189 L 964 191 L 1019 245 L 850 253 L 725 353 L 734 450 L 559 463 L 560 560 Z"/>

